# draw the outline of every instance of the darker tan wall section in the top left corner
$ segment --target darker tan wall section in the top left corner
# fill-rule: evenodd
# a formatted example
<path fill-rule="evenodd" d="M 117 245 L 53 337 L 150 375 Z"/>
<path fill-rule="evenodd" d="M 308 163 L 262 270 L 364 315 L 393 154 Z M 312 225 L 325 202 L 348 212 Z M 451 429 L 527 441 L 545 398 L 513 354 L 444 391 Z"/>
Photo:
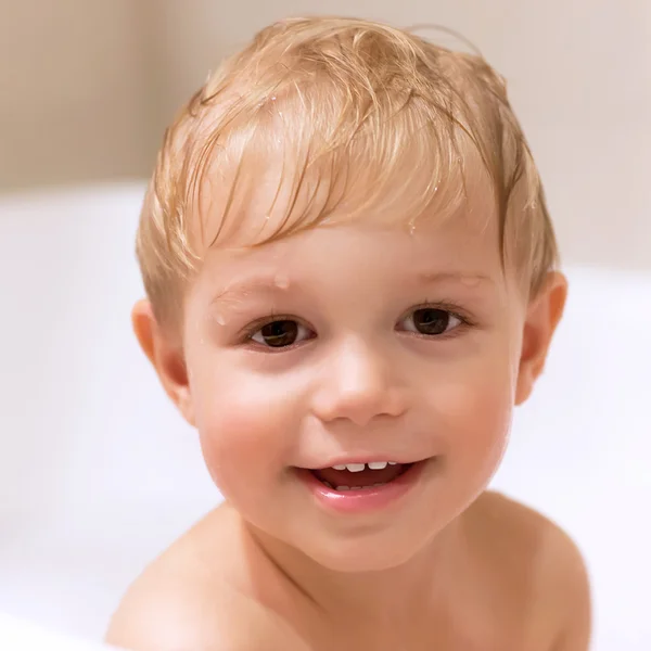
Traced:
<path fill-rule="evenodd" d="M 0 0 L 0 187 L 142 175 L 151 157 L 135 0 Z"/>

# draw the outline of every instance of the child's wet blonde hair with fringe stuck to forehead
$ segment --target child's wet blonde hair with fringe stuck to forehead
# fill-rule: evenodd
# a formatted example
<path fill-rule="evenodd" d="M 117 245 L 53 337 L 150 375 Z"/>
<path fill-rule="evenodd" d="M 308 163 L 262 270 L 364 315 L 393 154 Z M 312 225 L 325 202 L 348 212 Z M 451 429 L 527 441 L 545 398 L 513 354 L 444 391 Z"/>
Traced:
<path fill-rule="evenodd" d="M 460 206 L 471 158 L 493 189 L 502 259 L 535 295 L 557 244 L 503 79 L 478 55 L 378 23 L 276 23 L 226 60 L 165 133 L 137 238 L 154 314 L 176 320 L 202 247 L 238 226 L 255 246 L 393 197 L 396 219 L 413 229 L 427 210 Z M 256 230 L 242 215 L 269 167 L 276 191 Z M 265 217 L 279 206 L 269 231 Z M 206 234 L 208 222 L 218 228 Z"/>

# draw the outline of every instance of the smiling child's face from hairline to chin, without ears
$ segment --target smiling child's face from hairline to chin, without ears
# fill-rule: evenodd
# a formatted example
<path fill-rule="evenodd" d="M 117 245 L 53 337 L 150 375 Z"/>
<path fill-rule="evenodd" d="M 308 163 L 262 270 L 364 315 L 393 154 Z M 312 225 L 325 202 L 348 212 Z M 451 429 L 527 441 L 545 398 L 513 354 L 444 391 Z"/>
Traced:
<path fill-rule="evenodd" d="M 356 221 L 208 252 L 187 299 L 184 412 L 245 520 L 326 566 L 382 569 L 485 488 L 528 391 L 527 306 L 496 220 Z M 301 470 L 347 461 L 421 463 L 368 495 Z"/>

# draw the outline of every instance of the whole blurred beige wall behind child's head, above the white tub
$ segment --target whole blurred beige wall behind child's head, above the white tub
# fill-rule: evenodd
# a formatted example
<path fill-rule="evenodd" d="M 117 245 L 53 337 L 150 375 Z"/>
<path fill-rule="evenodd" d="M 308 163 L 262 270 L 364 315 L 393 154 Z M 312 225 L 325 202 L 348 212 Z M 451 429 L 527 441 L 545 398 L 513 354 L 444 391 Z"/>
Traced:
<path fill-rule="evenodd" d="M 469 37 L 509 80 L 565 259 L 651 268 L 649 0 L 0 0 L 0 187 L 145 174 L 224 53 L 326 8 Z"/>

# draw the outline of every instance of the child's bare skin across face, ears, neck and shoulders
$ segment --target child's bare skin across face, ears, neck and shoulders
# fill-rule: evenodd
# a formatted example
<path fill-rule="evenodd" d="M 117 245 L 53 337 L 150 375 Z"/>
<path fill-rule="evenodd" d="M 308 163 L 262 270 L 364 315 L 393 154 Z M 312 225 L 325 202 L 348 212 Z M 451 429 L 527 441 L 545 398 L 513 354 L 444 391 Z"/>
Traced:
<path fill-rule="evenodd" d="M 459 215 L 413 233 L 373 215 L 256 248 L 215 246 L 180 331 L 146 301 L 135 307 L 142 348 L 197 429 L 226 502 L 133 584 L 107 641 L 588 648 L 575 546 L 486 492 L 566 297 L 558 272 L 525 296 L 486 205 L 473 192 Z M 423 305 L 447 315 L 444 333 L 419 332 Z M 270 349 L 260 328 L 278 319 L 295 321 L 298 337 Z M 318 508 L 295 473 L 342 454 L 436 461 L 394 505 L 352 516 Z"/>

